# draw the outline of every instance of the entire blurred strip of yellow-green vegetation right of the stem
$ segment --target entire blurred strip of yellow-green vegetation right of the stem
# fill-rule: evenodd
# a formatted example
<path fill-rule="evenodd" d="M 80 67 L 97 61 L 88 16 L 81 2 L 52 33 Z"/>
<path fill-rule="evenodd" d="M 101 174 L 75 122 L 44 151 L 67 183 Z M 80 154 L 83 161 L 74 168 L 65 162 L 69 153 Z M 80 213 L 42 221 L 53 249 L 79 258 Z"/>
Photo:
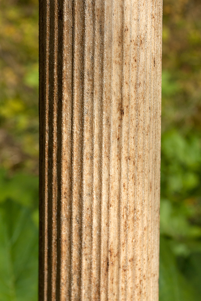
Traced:
<path fill-rule="evenodd" d="M 164 0 L 160 301 L 201 299 L 200 2 Z"/>

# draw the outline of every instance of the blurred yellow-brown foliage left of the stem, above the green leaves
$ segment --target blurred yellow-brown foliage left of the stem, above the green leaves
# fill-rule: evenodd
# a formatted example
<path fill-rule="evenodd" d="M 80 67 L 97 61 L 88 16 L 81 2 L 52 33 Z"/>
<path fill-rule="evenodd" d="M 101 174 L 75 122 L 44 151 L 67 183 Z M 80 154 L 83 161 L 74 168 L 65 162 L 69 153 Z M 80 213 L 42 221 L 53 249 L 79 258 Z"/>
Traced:
<path fill-rule="evenodd" d="M 38 1 L 0 2 L 0 164 L 38 169 Z"/>

